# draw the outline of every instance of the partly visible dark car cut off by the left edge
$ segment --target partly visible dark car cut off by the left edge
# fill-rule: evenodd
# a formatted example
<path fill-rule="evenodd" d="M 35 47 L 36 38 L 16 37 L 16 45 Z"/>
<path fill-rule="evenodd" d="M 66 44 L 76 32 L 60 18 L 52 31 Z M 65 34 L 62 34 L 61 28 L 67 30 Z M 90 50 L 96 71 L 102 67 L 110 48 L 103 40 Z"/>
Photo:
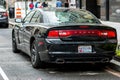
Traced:
<path fill-rule="evenodd" d="M 8 12 L 3 6 L 0 6 L 0 25 L 8 28 Z"/>

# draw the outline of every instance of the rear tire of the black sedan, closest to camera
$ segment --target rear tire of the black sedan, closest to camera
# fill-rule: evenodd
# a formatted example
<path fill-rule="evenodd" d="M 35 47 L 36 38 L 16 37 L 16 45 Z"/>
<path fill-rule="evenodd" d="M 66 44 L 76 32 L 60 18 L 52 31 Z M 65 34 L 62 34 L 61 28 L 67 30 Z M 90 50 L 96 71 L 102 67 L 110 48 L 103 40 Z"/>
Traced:
<path fill-rule="evenodd" d="M 33 41 L 31 46 L 31 63 L 34 68 L 45 68 L 45 63 L 40 60 L 35 40 Z"/>

